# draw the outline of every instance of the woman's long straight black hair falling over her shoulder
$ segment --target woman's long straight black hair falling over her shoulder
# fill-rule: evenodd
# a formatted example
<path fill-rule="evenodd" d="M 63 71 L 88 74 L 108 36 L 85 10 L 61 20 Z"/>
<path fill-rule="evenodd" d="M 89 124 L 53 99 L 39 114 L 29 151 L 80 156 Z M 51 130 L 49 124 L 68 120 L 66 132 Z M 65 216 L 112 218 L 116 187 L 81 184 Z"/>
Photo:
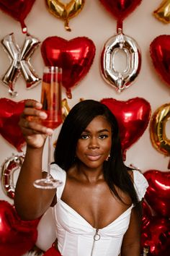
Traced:
<path fill-rule="evenodd" d="M 103 103 L 94 100 L 86 100 L 77 103 L 68 116 L 66 116 L 61 132 L 58 135 L 58 140 L 55 146 L 54 161 L 63 170 L 68 171 L 75 161 L 76 145 L 81 133 L 88 124 L 96 117 L 104 116 L 112 128 L 112 147 L 108 161 L 104 161 L 104 179 L 113 194 L 121 200 L 115 189 L 119 187 L 123 192 L 128 193 L 132 202 L 136 205 L 138 197 L 136 195 L 133 180 L 128 173 L 128 168 L 125 166 L 122 159 L 122 148 L 120 142 L 120 132 L 112 111 Z M 121 200 L 122 201 L 122 200 Z"/>

